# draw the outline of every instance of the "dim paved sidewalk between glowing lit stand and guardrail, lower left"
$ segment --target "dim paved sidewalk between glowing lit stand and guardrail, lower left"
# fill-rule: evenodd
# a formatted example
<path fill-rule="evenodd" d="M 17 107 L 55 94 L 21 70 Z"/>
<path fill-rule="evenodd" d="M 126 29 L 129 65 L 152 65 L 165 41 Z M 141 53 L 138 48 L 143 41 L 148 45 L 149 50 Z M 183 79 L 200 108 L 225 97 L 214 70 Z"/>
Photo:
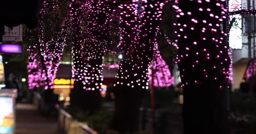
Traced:
<path fill-rule="evenodd" d="M 16 105 L 15 134 L 56 134 L 57 119 L 41 115 L 33 104 Z"/>

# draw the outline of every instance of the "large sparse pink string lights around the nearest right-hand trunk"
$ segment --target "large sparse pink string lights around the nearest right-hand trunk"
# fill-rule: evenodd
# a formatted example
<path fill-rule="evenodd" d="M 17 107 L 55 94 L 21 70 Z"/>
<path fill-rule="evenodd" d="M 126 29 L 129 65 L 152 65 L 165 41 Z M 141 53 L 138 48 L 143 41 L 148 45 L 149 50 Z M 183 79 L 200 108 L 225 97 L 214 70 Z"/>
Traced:
<path fill-rule="evenodd" d="M 225 0 L 179 0 L 178 5 L 173 5 L 177 14 L 184 13 L 176 25 L 183 30 L 175 32 L 179 46 L 176 62 L 184 89 L 209 82 L 212 88 L 228 87 L 230 57 L 223 43 L 227 33 L 219 27 L 226 18 L 224 5 Z"/>

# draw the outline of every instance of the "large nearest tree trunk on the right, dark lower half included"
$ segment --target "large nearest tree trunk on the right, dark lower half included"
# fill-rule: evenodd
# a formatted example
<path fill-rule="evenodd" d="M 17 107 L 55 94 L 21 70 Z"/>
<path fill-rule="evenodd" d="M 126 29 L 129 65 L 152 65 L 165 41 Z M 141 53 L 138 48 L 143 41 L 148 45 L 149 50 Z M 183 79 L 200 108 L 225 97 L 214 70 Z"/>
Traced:
<path fill-rule="evenodd" d="M 229 133 L 226 92 L 230 58 L 219 27 L 223 5 L 222 1 L 179 0 L 177 62 L 184 91 L 184 134 Z"/>

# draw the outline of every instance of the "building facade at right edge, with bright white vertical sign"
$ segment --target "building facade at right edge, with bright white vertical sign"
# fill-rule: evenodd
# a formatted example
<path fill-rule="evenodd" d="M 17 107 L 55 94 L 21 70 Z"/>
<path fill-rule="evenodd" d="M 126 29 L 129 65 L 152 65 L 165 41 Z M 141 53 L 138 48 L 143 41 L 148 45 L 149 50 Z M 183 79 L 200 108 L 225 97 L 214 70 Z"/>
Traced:
<path fill-rule="evenodd" d="M 237 9 L 238 4 L 239 8 Z M 229 0 L 229 11 L 255 9 L 255 7 L 255 0 Z M 232 48 L 233 61 L 232 91 L 239 90 L 249 60 L 256 57 L 256 16 L 233 15 L 230 16 L 230 20 L 234 17 L 236 18 L 236 21 L 233 23 L 229 33 L 229 46 Z M 235 35 L 232 32 L 240 34 Z M 242 44 L 240 42 L 242 42 Z"/>

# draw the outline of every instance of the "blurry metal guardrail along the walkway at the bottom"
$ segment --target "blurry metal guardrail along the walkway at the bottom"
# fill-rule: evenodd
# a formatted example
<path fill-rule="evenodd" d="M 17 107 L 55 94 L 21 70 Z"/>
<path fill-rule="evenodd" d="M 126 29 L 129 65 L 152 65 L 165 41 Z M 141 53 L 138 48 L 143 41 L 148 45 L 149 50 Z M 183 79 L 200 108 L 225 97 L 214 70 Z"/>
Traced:
<path fill-rule="evenodd" d="M 59 118 L 58 118 L 58 134 L 67 134 L 72 122 L 76 121 L 80 129 L 83 130 L 84 134 L 98 134 L 96 131 L 91 129 L 86 124 L 75 120 L 69 113 L 64 111 L 62 108 L 59 108 Z M 78 133 L 72 133 L 78 134 Z M 79 133 L 80 134 L 80 133 Z"/>

